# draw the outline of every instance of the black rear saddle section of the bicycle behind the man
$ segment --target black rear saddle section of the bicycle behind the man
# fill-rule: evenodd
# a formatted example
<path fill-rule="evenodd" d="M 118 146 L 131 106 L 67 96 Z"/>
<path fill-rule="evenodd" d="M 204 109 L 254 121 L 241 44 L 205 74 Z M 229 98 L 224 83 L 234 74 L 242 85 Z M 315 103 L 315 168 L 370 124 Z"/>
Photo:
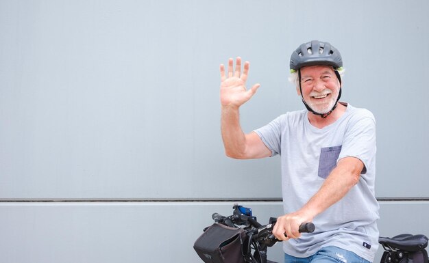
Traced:
<path fill-rule="evenodd" d="M 380 237 L 384 247 L 381 263 L 428 263 L 428 238 L 424 235 L 401 234 L 393 238 Z"/>

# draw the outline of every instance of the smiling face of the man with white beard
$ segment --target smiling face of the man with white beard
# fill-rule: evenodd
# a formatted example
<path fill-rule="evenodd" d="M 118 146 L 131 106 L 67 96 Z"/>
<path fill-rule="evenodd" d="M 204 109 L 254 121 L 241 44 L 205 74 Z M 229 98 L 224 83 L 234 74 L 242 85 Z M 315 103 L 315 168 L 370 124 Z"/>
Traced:
<path fill-rule="evenodd" d="M 340 83 L 331 66 L 303 67 L 300 81 L 302 97 L 313 111 L 325 114 L 334 107 Z"/>

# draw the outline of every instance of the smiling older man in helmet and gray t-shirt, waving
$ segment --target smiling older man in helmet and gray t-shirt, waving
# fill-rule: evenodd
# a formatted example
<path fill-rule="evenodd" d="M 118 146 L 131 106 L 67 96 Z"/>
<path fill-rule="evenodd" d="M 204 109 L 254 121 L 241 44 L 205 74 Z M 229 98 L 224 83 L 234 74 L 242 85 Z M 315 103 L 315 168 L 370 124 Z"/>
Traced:
<path fill-rule="evenodd" d="M 243 133 L 239 108 L 246 89 L 241 58 L 221 71 L 221 133 L 225 154 L 248 159 L 280 155 L 285 214 L 273 229 L 284 262 L 372 262 L 378 248 L 376 122 L 370 111 L 340 102 L 343 61 L 328 42 L 301 44 L 291 55 L 291 81 L 306 109 Z M 313 222 L 313 233 L 299 225 Z M 286 236 L 287 237 L 286 237 Z"/>

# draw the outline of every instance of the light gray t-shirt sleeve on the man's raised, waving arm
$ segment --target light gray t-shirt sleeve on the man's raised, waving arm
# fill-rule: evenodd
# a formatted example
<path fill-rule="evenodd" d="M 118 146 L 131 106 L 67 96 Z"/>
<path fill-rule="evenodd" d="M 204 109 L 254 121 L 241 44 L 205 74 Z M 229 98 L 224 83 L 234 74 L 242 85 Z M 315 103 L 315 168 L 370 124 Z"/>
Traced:
<path fill-rule="evenodd" d="M 282 116 L 277 117 L 269 124 L 254 130 L 265 143 L 265 146 L 271 150 L 271 156 L 281 154 L 281 135 L 282 135 Z"/>

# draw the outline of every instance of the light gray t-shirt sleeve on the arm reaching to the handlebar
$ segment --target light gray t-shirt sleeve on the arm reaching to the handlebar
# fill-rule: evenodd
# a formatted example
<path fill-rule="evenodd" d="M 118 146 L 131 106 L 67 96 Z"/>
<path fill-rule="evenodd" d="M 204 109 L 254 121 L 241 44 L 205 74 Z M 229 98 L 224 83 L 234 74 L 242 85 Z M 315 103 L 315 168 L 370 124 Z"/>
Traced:
<path fill-rule="evenodd" d="M 347 125 L 338 160 L 349 156 L 363 162 L 362 174 L 376 161 L 376 120 L 370 111 L 355 115 Z"/>

